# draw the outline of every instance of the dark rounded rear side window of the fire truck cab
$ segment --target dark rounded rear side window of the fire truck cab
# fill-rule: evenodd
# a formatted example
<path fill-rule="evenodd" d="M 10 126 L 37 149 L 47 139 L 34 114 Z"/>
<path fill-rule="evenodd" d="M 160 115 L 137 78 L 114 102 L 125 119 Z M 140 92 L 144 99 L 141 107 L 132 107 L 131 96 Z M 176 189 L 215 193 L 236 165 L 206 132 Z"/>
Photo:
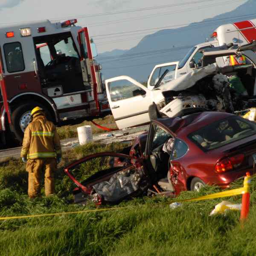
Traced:
<path fill-rule="evenodd" d="M 22 48 L 19 42 L 4 44 L 3 51 L 9 73 L 19 72 L 25 69 Z"/>

